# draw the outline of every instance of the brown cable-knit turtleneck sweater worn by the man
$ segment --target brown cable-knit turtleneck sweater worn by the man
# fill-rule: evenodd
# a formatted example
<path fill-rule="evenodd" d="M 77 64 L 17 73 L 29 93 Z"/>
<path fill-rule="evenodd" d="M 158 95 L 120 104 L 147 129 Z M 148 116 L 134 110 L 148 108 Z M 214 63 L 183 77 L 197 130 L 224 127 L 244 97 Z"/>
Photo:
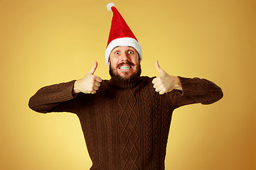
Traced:
<path fill-rule="evenodd" d="M 154 78 L 154 77 L 153 77 Z M 153 78 L 127 84 L 104 80 L 96 94 L 72 95 L 75 81 L 46 86 L 28 105 L 40 113 L 78 115 L 92 159 L 91 169 L 164 169 L 171 115 L 180 106 L 210 104 L 223 97 L 206 79 L 183 78 L 183 91 L 159 95 Z"/>

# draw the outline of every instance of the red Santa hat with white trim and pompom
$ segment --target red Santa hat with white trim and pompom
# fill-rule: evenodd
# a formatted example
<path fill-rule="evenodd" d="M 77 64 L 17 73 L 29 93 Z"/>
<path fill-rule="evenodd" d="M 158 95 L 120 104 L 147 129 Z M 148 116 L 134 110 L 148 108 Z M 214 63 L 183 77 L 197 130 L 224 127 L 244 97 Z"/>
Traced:
<path fill-rule="evenodd" d="M 113 12 L 112 23 L 110 28 L 110 36 L 107 41 L 107 49 L 105 51 L 105 60 L 108 65 L 110 52 L 117 46 L 130 46 L 134 47 L 139 54 L 140 60 L 142 60 L 142 47 L 132 30 L 122 18 L 121 14 L 114 7 L 113 3 L 107 4 L 107 10 Z"/>

